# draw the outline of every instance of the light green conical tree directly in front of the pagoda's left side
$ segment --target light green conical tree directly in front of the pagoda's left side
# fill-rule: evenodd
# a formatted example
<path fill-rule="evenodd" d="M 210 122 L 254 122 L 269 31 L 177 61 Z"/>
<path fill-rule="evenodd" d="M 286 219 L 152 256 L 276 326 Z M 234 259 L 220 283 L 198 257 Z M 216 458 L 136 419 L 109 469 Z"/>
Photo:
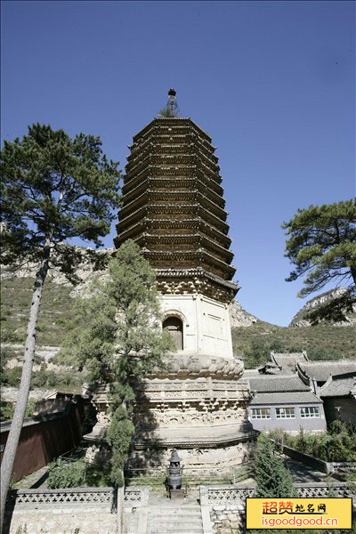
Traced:
<path fill-rule="evenodd" d="M 91 380 L 109 384 L 112 448 L 111 479 L 122 484 L 122 470 L 134 435 L 133 404 L 138 384 L 163 365 L 173 348 L 162 332 L 156 273 L 140 247 L 127 240 L 109 262 L 109 278 L 97 280 L 93 297 L 79 300 L 76 321 L 63 357 L 86 368 Z"/>

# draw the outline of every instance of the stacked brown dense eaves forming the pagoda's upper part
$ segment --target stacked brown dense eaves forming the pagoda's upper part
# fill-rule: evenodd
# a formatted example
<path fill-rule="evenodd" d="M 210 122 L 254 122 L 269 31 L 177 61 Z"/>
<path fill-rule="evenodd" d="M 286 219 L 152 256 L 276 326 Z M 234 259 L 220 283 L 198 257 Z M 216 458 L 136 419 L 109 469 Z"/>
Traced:
<path fill-rule="evenodd" d="M 236 293 L 229 281 L 235 269 L 222 178 L 210 137 L 190 118 L 156 118 L 130 148 L 116 247 L 134 239 L 160 273 L 158 280 L 164 272 L 187 278 L 195 270 Z"/>

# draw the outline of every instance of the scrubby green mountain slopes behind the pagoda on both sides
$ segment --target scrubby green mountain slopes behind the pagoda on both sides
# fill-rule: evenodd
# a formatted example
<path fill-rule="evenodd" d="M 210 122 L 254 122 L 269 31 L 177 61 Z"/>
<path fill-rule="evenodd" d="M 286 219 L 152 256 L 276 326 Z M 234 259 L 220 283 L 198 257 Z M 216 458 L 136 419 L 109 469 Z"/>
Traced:
<path fill-rule="evenodd" d="M 107 249 L 102 252 L 112 250 Z M 20 271 L 17 275 L 7 270 L 2 271 L 2 343 L 24 343 L 34 272 L 33 267 L 30 267 L 29 271 Z M 104 271 L 98 272 L 103 274 Z M 66 283 L 60 273 L 55 271 L 52 271 L 46 280 L 36 336 L 37 345 L 61 346 L 68 325 L 74 317 L 75 297 L 86 293 L 93 276 L 93 269 L 85 265 L 80 268 L 78 274 L 84 278 L 84 282 L 77 287 Z M 305 310 L 304 306 L 296 314 L 292 323 L 299 328 L 283 328 L 258 320 L 243 310 L 238 301 L 233 301 L 231 327 L 235 352 L 242 354 L 256 338 L 259 338 L 261 343 L 266 345 L 275 344 L 277 341 L 280 350 L 306 350 L 312 358 L 327 356 L 329 359 L 343 356 L 356 358 L 356 328 L 351 326 L 351 321 L 349 326 L 344 328 L 336 328 L 332 322 L 316 326 L 309 326 L 310 322 L 302 322 L 305 312 L 315 308 L 315 303 L 325 303 L 328 298 L 328 294 L 319 295 L 306 304 L 309 308 Z M 353 313 L 354 315 L 356 314 Z"/>

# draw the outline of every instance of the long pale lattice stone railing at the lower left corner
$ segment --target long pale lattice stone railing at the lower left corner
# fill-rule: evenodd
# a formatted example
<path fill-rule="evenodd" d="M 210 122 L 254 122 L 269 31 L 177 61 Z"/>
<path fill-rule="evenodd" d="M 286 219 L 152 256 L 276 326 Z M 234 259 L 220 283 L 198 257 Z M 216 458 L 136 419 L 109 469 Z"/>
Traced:
<path fill-rule="evenodd" d="M 12 490 L 9 506 L 28 508 L 101 508 L 112 511 L 115 507 L 114 488 L 66 488 L 61 490 Z"/>

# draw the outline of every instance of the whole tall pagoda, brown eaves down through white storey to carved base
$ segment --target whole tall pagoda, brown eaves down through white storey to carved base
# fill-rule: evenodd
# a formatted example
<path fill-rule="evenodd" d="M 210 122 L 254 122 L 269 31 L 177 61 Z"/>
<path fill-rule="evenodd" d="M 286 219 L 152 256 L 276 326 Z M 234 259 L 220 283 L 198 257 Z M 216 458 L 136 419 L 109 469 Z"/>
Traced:
<path fill-rule="evenodd" d="M 115 246 L 134 239 L 156 270 L 162 326 L 177 346 L 169 370 L 145 380 L 129 466 L 161 469 L 177 449 L 186 473 L 231 470 L 246 461 L 255 432 L 232 352 L 238 286 L 218 158 L 190 118 L 155 118 L 129 148 Z M 96 393 L 101 411 L 105 399 Z"/>

